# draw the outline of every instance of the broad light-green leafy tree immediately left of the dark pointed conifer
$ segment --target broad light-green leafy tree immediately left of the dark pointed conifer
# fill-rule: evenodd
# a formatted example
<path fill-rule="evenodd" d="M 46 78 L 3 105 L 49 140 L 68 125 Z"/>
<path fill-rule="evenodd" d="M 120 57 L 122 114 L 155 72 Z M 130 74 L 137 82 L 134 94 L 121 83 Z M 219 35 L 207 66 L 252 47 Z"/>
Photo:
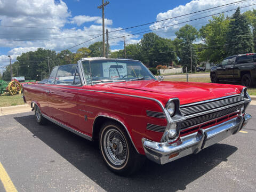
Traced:
<path fill-rule="evenodd" d="M 224 14 L 220 14 L 213 16 L 207 25 L 199 29 L 199 36 L 207 47 L 202 50 L 200 61 L 220 62 L 227 56 L 226 47 L 218 45 L 226 44 L 229 22 Z"/>

